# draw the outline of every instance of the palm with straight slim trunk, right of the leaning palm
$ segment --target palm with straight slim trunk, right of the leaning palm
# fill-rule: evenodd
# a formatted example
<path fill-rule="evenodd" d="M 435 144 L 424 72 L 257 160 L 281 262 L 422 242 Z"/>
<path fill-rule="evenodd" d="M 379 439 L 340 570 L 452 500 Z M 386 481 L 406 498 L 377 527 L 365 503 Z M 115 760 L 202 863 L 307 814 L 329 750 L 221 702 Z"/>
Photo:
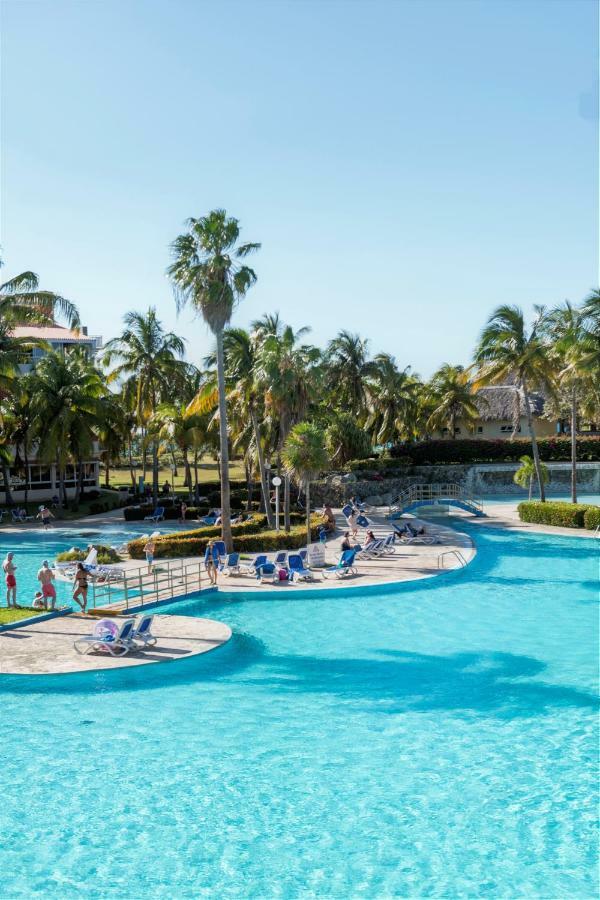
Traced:
<path fill-rule="evenodd" d="M 577 414 L 582 388 L 590 380 L 591 340 L 586 317 L 568 300 L 553 309 L 545 320 L 551 353 L 559 368 L 559 382 L 569 397 L 571 421 L 571 502 L 577 503 Z"/>

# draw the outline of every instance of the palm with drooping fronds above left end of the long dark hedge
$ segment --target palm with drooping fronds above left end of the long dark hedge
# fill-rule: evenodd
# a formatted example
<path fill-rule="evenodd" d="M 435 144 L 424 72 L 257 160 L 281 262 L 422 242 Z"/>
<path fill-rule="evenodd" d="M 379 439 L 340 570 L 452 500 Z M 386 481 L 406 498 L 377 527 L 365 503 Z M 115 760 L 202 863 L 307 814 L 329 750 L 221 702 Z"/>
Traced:
<path fill-rule="evenodd" d="M 410 367 L 398 369 L 389 353 L 379 353 L 366 384 L 369 415 L 366 429 L 375 444 L 388 444 L 398 437 L 412 437 L 421 388 Z"/>

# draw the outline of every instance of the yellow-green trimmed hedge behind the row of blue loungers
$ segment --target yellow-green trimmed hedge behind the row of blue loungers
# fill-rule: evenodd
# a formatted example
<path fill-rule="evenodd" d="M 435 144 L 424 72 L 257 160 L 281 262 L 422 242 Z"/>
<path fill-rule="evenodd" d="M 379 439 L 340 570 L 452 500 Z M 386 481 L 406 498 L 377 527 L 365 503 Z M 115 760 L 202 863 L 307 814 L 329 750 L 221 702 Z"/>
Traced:
<path fill-rule="evenodd" d="M 289 534 L 286 534 L 285 531 L 265 531 L 267 517 L 262 514 L 255 514 L 247 522 L 241 522 L 239 525 L 232 526 L 231 533 L 233 535 L 234 548 L 240 552 L 252 553 L 261 550 L 294 550 L 304 546 L 306 541 L 304 516 L 301 513 L 292 513 L 290 522 L 292 527 Z M 313 515 L 311 532 L 315 540 L 318 536 L 319 526 L 322 524 L 323 517 L 319 514 Z M 211 539 L 218 540 L 220 537 L 220 527 L 195 528 L 193 531 L 167 534 L 156 539 L 154 556 L 156 559 L 203 556 L 208 541 Z M 139 538 L 135 541 L 130 541 L 128 550 L 132 559 L 144 558 L 145 543 L 145 540 Z"/>

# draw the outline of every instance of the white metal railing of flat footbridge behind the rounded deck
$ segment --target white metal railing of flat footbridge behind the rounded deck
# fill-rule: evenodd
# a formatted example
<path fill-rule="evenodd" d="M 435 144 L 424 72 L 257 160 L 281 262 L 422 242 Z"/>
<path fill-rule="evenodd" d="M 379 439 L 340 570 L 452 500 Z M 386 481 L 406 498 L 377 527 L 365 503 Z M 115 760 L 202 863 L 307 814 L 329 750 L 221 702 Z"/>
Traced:
<path fill-rule="evenodd" d="M 202 574 L 200 561 L 180 559 L 157 562 L 151 571 L 147 566 L 123 569 L 122 576 L 117 578 L 91 581 L 90 606 L 118 606 L 128 610 L 159 600 L 185 597 L 202 588 Z"/>

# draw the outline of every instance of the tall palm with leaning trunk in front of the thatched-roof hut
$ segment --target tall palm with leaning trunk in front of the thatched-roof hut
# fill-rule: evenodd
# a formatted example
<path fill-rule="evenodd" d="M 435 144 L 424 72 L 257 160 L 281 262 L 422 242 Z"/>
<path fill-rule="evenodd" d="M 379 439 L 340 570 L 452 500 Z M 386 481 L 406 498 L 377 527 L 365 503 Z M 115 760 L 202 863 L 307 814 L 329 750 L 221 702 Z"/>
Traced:
<path fill-rule="evenodd" d="M 487 384 L 511 383 L 523 396 L 531 449 L 540 489 L 546 499 L 540 454 L 531 412 L 530 392 L 536 388 L 553 389 L 553 370 L 548 348 L 542 340 L 544 310 L 536 307 L 536 319 L 528 330 L 518 306 L 499 306 L 490 316 L 479 338 L 475 362 L 479 367 L 476 390 Z"/>

